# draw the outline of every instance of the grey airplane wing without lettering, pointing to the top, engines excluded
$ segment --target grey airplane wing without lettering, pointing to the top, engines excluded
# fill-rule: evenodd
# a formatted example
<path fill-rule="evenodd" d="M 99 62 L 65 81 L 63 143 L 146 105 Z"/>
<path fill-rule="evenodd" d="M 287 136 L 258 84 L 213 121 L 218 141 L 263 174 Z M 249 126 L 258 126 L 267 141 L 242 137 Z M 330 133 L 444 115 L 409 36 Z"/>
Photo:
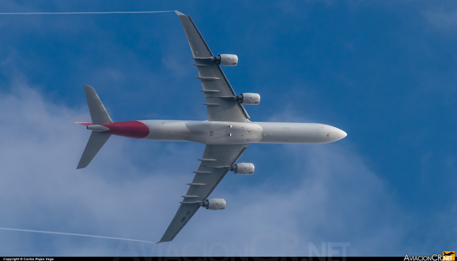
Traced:
<path fill-rule="evenodd" d="M 196 78 L 202 81 L 203 89 L 201 91 L 206 97 L 206 103 L 203 105 L 207 105 L 208 120 L 250 122 L 250 117 L 243 104 L 234 99 L 214 97 L 214 95 L 236 96 L 236 94 L 221 67 L 214 62 L 213 52 L 209 49 L 191 17 L 178 11 L 175 12 L 181 20 L 191 47 L 192 58 L 195 60 L 194 65 L 197 67 L 199 75 Z"/>

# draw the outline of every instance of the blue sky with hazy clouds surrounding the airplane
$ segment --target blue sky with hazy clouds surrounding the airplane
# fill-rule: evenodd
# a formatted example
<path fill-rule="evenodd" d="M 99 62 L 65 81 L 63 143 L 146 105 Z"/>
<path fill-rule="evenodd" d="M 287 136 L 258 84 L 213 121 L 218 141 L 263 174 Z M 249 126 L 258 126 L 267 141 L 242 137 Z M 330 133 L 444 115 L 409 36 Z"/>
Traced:
<path fill-rule="evenodd" d="M 255 174 L 228 174 L 213 193 L 227 209 L 199 210 L 163 254 L 225 255 L 235 245 L 278 256 L 282 240 L 302 256 L 309 242 L 319 251 L 350 242 L 351 256 L 455 250 L 455 2 L 0 4 L 143 10 L 179 10 L 213 53 L 239 56 L 223 70 L 237 93 L 260 93 L 260 105 L 246 106 L 251 120 L 348 133 L 324 145 L 250 145 L 241 160 Z M 0 227 L 159 240 L 204 146 L 112 137 L 75 170 L 90 132 L 69 121 L 90 120 L 82 84 L 115 121 L 207 120 L 175 13 L 0 16 L 0 35 Z M 0 231 L 0 242 L 2 256 L 143 255 L 119 240 Z"/>

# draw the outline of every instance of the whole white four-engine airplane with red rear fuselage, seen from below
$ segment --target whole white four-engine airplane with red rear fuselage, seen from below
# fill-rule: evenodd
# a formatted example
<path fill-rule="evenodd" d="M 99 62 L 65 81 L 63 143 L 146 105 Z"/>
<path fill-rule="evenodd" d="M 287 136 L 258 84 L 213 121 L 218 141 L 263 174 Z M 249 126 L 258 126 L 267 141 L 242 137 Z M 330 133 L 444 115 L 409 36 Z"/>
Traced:
<path fill-rule="evenodd" d="M 202 83 L 208 120 L 131 120 L 113 122 L 94 88 L 84 85 L 92 122 L 73 121 L 92 131 L 77 169 L 87 167 L 111 135 L 149 141 L 191 141 L 205 144 L 200 166 L 194 171 L 187 193 L 164 235 L 157 243 L 175 238 L 201 207 L 225 209 L 223 198 L 208 198 L 232 171 L 240 175 L 254 173 L 254 164 L 237 163 L 253 143 L 322 144 L 343 139 L 347 134 L 333 126 L 318 123 L 253 122 L 244 105 L 258 105 L 260 94 L 237 95 L 221 66 L 236 66 L 238 56 L 214 56 L 190 16 L 175 11 L 191 47 L 193 64 Z"/>

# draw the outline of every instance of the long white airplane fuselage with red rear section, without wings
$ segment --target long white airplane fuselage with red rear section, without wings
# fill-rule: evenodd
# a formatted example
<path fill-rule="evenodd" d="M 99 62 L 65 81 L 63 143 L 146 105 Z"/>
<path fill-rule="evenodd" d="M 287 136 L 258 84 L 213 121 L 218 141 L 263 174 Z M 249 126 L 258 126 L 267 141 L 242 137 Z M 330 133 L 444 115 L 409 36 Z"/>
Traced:
<path fill-rule="evenodd" d="M 346 133 L 318 123 L 133 120 L 91 125 L 92 131 L 149 141 L 192 141 L 208 145 L 250 143 L 321 144 Z"/>

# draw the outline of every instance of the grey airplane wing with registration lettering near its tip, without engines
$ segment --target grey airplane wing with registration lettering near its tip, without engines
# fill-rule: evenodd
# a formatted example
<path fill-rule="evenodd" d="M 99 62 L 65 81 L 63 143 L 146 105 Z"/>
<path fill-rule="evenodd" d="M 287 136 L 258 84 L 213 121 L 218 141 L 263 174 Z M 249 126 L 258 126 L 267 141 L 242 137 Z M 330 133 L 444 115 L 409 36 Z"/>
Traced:
<path fill-rule="evenodd" d="M 184 225 L 200 208 L 199 203 L 204 202 L 227 174 L 227 167 L 234 165 L 247 149 L 247 144 L 237 145 L 207 145 L 203 158 L 199 159 L 202 163 L 195 177 L 187 190 L 186 195 L 182 196 L 181 206 L 171 220 L 165 234 L 159 242 L 173 240 L 181 231 Z"/>

